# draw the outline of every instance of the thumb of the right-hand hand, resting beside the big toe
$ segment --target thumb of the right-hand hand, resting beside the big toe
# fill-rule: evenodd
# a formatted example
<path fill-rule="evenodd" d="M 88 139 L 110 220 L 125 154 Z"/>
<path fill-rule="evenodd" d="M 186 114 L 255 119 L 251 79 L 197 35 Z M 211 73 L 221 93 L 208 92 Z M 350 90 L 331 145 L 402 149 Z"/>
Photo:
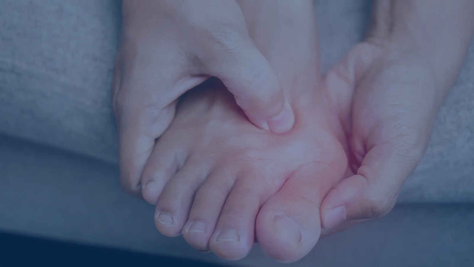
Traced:
<path fill-rule="evenodd" d="M 418 157 L 407 155 L 406 149 L 396 145 L 374 146 L 365 155 L 357 174 L 341 181 L 323 200 L 322 227 L 344 229 L 387 214 L 418 162 Z"/>

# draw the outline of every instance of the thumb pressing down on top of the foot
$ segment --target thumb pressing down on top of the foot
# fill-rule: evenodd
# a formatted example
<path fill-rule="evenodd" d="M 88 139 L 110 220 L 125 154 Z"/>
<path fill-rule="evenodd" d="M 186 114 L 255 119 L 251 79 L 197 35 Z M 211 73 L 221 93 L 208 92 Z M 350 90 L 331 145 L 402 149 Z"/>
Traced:
<path fill-rule="evenodd" d="M 277 75 L 251 40 L 241 47 L 221 52 L 209 65 L 210 75 L 222 81 L 257 127 L 275 134 L 290 131 L 294 113 Z"/>

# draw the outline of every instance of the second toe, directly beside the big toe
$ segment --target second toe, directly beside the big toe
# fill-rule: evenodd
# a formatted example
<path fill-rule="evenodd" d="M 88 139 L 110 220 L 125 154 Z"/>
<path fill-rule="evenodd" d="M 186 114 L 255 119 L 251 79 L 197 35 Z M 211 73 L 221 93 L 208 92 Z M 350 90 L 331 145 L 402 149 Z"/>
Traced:
<path fill-rule="evenodd" d="M 238 178 L 229 193 L 209 242 L 210 249 L 219 257 L 241 259 L 252 248 L 262 196 L 255 181 L 255 176 Z"/>

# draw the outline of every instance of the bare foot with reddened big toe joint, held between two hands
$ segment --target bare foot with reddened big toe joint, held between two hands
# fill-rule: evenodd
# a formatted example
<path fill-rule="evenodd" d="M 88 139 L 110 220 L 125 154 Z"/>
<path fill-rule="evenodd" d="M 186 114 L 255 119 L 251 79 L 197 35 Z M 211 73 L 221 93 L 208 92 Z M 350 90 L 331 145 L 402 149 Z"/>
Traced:
<path fill-rule="evenodd" d="M 245 257 L 256 239 L 284 262 L 304 257 L 318 241 L 320 203 L 347 163 L 318 88 L 316 29 L 312 10 L 307 14 L 283 18 L 272 28 L 278 32 L 254 39 L 295 112 L 289 133 L 255 127 L 216 80 L 182 99 L 142 176 L 143 197 L 156 204 L 164 235 L 182 233 L 191 246 L 226 259 Z"/>

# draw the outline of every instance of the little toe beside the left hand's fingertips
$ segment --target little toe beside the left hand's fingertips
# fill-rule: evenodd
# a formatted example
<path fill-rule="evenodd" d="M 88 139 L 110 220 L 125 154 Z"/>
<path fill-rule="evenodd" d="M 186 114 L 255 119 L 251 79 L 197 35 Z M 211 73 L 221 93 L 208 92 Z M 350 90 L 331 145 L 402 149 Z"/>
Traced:
<path fill-rule="evenodd" d="M 184 161 L 184 156 L 169 142 L 157 142 L 146 162 L 141 178 L 142 196 L 155 205 L 164 185 L 173 177 Z"/>

